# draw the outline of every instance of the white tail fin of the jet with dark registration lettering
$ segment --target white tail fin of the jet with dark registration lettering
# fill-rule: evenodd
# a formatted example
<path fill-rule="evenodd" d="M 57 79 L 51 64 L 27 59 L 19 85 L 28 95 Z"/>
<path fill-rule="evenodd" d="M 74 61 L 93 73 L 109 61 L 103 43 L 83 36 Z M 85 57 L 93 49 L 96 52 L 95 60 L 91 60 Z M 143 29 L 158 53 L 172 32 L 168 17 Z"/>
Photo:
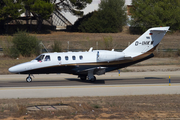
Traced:
<path fill-rule="evenodd" d="M 130 46 L 128 46 L 123 53 L 126 56 L 136 57 L 148 52 L 153 52 L 158 46 L 166 32 L 170 27 L 156 27 L 150 28 Z"/>

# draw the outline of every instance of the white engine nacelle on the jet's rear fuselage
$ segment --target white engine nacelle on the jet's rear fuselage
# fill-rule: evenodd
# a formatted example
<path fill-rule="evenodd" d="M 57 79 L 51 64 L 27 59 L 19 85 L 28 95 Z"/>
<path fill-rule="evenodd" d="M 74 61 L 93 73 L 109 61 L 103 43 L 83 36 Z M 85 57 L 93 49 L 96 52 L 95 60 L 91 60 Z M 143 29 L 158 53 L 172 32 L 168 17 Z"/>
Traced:
<path fill-rule="evenodd" d="M 115 51 L 97 51 L 98 62 L 111 62 L 124 59 L 125 55 L 122 52 Z"/>

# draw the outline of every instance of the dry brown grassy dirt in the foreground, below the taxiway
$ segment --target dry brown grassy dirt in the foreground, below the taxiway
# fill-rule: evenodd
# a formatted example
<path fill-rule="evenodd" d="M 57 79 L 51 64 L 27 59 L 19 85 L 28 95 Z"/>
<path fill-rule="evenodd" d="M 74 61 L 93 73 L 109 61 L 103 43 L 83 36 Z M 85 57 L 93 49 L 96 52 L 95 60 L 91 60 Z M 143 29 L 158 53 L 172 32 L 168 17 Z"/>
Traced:
<path fill-rule="evenodd" d="M 180 95 L 1 99 L 3 120 L 179 119 Z M 66 110 L 28 111 L 29 106 L 65 105 Z"/>

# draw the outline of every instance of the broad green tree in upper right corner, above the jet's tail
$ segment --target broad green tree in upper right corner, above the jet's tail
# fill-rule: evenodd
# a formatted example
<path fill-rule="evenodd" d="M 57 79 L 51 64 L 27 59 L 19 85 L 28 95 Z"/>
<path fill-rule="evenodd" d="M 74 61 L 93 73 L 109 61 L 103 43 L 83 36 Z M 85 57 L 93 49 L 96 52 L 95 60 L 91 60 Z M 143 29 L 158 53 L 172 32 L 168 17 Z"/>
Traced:
<path fill-rule="evenodd" d="M 132 27 L 139 27 L 142 32 L 155 26 L 180 30 L 179 0 L 133 0 L 132 6 Z"/>

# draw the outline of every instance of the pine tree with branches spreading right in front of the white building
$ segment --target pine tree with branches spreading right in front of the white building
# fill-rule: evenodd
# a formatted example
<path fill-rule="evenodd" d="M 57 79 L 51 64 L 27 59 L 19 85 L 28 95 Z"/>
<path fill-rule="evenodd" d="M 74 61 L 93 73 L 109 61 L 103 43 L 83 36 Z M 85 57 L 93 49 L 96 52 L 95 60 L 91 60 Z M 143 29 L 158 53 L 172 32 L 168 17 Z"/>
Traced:
<path fill-rule="evenodd" d="M 37 30 L 41 30 L 42 22 L 48 19 L 54 10 L 69 11 L 73 15 L 82 16 L 80 11 L 92 0 L 23 0 L 27 12 L 37 19 Z"/>

